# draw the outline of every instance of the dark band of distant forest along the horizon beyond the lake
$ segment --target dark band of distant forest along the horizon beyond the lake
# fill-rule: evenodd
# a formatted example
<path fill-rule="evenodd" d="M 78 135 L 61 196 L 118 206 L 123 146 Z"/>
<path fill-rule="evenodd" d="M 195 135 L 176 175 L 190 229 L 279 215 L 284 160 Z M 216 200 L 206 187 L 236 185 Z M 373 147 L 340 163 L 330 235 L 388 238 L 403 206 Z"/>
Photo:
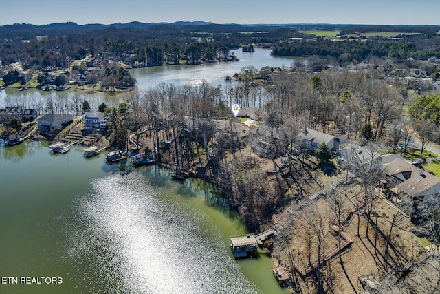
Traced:
<path fill-rule="evenodd" d="M 383 32 L 395 29 L 395 32 L 419 32 L 417 35 L 405 35 L 391 39 L 384 37 L 370 38 L 367 41 L 342 40 L 331 41 L 316 38 L 299 31 L 313 26 L 285 25 L 264 26 L 266 32 L 256 31 L 260 26 L 246 25 L 184 25 L 172 24 L 95 28 L 88 32 L 76 30 L 72 25 L 64 28 L 65 33 L 56 34 L 56 26 L 50 34 L 37 36 L 34 27 L 28 25 L 0 27 L 0 59 L 2 65 L 21 60 L 25 69 L 47 65 L 65 68 L 75 59 L 85 56 L 103 56 L 113 60 L 123 60 L 127 65 L 148 61 L 148 65 L 163 65 L 169 54 L 185 56 L 190 64 L 197 64 L 201 59 L 212 60 L 228 55 L 225 52 L 239 48 L 241 44 L 256 43 L 273 47 L 273 54 L 285 56 L 321 56 L 342 60 L 362 61 L 372 56 L 392 58 L 404 61 L 408 58 L 428 59 L 440 57 L 440 36 L 435 33 L 437 26 L 342 26 L 345 34 L 350 30 L 356 32 Z M 21 27 L 24 26 L 23 30 Z M 315 25 L 316 26 L 316 25 Z M 246 33 L 240 32 L 245 30 Z M 38 28 L 38 27 L 37 27 Z M 82 28 L 80 26 L 80 28 Z M 327 28 L 325 25 L 320 29 Z M 328 29 L 335 30 L 335 25 Z M 28 41 L 23 43 L 21 32 L 29 32 Z M 303 41 L 289 41 L 292 37 L 301 37 Z"/>

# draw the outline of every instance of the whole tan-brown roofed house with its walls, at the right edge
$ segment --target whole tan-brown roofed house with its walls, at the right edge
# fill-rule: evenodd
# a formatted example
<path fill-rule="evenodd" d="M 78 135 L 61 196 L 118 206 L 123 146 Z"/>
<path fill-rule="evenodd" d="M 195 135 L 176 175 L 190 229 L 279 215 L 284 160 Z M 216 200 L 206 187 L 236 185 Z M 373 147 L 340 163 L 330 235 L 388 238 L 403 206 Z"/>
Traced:
<path fill-rule="evenodd" d="M 428 195 L 440 194 L 440 178 L 427 173 L 423 168 L 396 158 L 384 167 L 381 188 L 386 196 L 399 204 L 402 198 L 410 198 L 413 208 Z"/>

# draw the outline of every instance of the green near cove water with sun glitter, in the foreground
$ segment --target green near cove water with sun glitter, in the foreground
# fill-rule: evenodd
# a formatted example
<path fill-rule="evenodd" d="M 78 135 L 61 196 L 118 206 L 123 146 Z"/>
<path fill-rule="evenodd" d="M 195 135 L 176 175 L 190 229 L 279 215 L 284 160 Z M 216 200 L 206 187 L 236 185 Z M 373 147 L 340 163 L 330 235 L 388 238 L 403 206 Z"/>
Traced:
<path fill-rule="evenodd" d="M 232 258 L 247 232 L 201 180 L 27 142 L 0 146 L 0 187 L 0 277 L 63 278 L 0 293 L 285 293 L 270 258 Z"/>

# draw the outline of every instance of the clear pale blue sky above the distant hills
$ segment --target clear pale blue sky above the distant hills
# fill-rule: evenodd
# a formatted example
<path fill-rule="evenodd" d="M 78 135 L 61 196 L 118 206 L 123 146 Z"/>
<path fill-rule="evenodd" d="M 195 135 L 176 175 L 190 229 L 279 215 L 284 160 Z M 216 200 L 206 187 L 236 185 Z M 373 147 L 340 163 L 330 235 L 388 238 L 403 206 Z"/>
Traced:
<path fill-rule="evenodd" d="M 0 25 L 349 23 L 440 25 L 439 0 L 1 0 Z"/>

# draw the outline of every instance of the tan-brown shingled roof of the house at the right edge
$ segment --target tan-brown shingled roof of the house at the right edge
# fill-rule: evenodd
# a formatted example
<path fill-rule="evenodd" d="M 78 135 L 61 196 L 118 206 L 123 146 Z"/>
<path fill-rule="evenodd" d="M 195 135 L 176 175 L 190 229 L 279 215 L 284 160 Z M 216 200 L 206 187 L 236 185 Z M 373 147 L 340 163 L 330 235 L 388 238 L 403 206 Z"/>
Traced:
<path fill-rule="evenodd" d="M 396 187 L 409 196 L 418 197 L 429 193 L 440 193 L 440 178 L 428 174 L 423 169 L 410 165 L 400 158 L 396 158 L 389 165 L 386 165 L 384 172 L 388 176 L 403 181 Z"/>

